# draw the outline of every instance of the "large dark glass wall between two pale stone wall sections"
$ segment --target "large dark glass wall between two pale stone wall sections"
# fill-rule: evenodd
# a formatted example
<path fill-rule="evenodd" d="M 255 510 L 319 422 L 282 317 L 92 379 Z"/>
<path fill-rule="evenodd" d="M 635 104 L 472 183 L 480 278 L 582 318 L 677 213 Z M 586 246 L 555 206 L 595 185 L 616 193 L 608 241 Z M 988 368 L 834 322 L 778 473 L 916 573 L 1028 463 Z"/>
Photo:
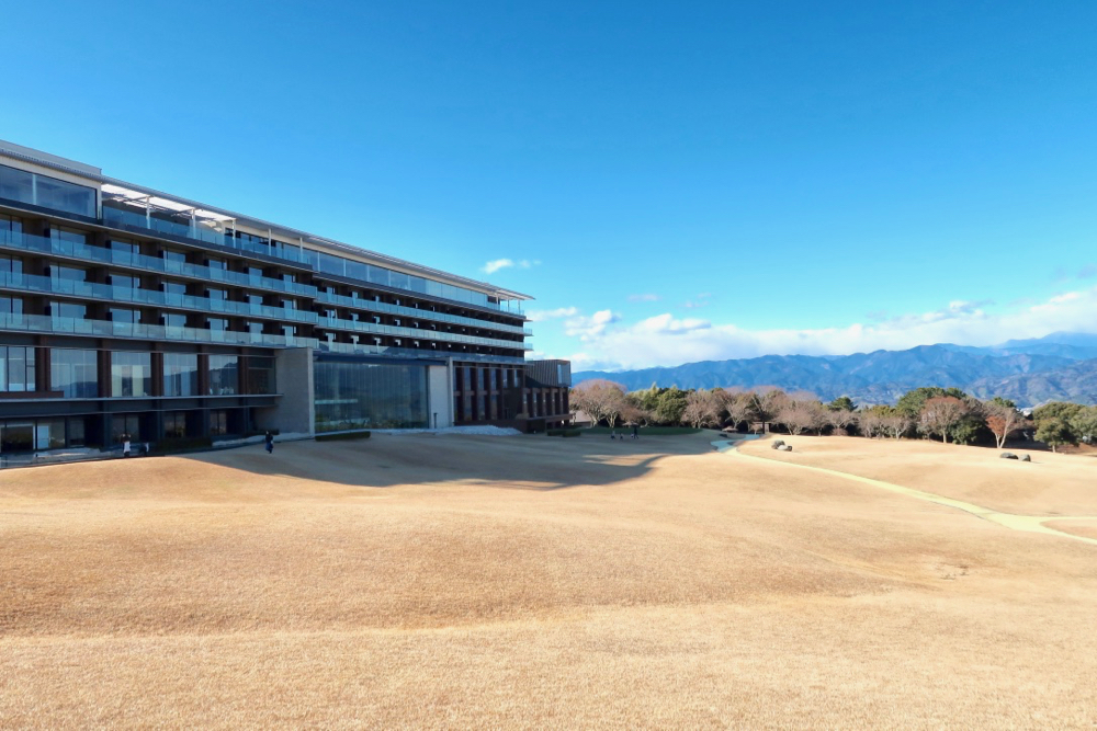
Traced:
<path fill-rule="evenodd" d="M 318 362 L 316 431 L 426 429 L 427 367 Z"/>

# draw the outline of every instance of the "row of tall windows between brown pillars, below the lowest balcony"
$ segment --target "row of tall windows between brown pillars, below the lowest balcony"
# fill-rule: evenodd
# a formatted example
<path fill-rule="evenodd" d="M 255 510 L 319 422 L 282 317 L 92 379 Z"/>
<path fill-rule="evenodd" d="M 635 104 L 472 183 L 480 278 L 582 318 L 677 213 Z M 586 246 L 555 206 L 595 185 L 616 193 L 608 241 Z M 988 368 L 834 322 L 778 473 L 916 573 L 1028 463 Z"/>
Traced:
<path fill-rule="evenodd" d="M 239 391 L 239 356 L 208 355 L 206 393 L 234 396 Z M 60 391 L 68 399 L 99 397 L 99 353 L 92 350 L 50 349 L 49 388 L 35 382 L 35 349 L 0 346 L 0 391 Z M 162 396 L 199 396 L 199 355 L 165 353 Z M 252 356 L 247 368 L 249 393 L 273 393 L 274 358 Z M 111 397 L 152 396 L 151 353 L 111 353 Z"/>

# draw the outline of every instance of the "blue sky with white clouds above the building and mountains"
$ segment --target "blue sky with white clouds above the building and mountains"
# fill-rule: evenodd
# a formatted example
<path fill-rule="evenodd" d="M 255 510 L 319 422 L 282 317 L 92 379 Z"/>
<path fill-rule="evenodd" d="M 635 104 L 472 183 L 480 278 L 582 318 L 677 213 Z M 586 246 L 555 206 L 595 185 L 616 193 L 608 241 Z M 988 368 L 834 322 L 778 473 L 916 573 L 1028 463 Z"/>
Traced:
<path fill-rule="evenodd" d="M 531 294 L 577 369 L 1097 330 L 1097 3 L 10 4 L 0 138 Z"/>

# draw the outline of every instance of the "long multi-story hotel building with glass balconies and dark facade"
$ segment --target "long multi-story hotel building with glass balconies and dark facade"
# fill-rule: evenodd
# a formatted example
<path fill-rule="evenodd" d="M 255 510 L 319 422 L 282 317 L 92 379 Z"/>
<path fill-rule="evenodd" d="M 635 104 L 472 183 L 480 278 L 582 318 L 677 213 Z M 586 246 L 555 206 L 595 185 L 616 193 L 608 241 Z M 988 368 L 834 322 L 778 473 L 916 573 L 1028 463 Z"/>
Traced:
<path fill-rule="evenodd" d="M 0 141 L 0 454 L 550 426 L 527 299 Z"/>

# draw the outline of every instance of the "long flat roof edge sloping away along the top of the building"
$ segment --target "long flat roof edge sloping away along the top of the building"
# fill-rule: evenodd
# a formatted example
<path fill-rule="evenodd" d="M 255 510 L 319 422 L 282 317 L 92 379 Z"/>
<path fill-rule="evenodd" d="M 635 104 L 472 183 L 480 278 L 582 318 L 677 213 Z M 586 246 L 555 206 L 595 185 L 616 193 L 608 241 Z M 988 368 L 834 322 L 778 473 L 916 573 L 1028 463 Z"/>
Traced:
<path fill-rule="evenodd" d="M 8 157 L 14 160 L 23 160 L 25 162 L 31 162 L 44 168 L 49 168 L 53 170 L 58 170 L 60 172 L 67 172 L 69 174 L 78 175 L 80 178 L 86 178 L 88 180 L 100 183 L 101 189 L 111 194 L 112 191 L 106 190 L 109 187 L 113 189 L 124 189 L 126 191 L 133 191 L 140 193 L 145 196 L 151 196 L 154 198 L 159 198 L 166 202 L 172 202 L 182 208 L 190 208 L 201 212 L 204 215 L 211 215 L 214 218 L 225 218 L 231 219 L 250 228 L 257 229 L 268 229 L 272 235 L 278 236 L 281 239 L 286 239 L 289 243 L 299 242 L 306 249 L 314 251 L 321 251 L 332 254 L 354 254 L 357 256 L 367 258 L 370 260 L 375 260 L 378 264 L 387 264 L 389 266 L 396 266 L 409 272 L 421 274 L 426 277 L 432 279 L 442 281 L 448 284 L 454 284 L 463 287 L 475 288 L 486 294 L 495 295 L 500 299 L 533 299 L 530 295 L 524 295 L 520 292 L 513 292 L 511 289 L 504 289 L 497 287 L 488 282 L 479 282 L 477 279 L 470 279 L 457 274 L 451 274 L 449 272 L 443 272 L 441 270 L 432 269 L 430 266 L 423 266 L 422 264 L 416 264 L 415 262 L 409 262 L 404 259 L 398 259 L 396 256 L 389 256 L 388 254 L 382 254 L 376 251 L 371 251 L 369 249 L 363 249 L 362 247 L 357 247 L 350 243 L 343 243 L 341 241 L 335 241 L 325 237 L 317 236 L 315 233 L 309 233 L 308 231 L 302 231 L 295 228 L 290 228 L 287 226 L 281 226 L 279 224 L 273 224 L 271 221 L 263 220 L 261 218 L 252 218 L 251 216 L 245 216 L 244 214 L 238 214 L 233 210 L 227 210 L 225 208 L 218 208 L 216 206 L 211 206 L 205 203 L 199 203 L 197 201 L 191 201 L 189 198 L 183 198 L 178 195 L 172 195 L 170 193 L 165 193 L 156 189 L 148 187 L 146 185 L 138 185 L 137 183 L 129 183 L 124 180 L 118 180 L 116 178 L 110 178 L 103 174 L 101 168 L 95 168 L 83 162 L 77 162 L 76 160 L 69 160 L 67 158 L 61 158 L 56 155 L 49 155 L 48 152 L 43 152 L 41 150 L 35 150 L 30 147 L 23 147 L 22 145 L 15 145 L 14 142 L 9 142 L 0 139 L 0 156 Z"/>

